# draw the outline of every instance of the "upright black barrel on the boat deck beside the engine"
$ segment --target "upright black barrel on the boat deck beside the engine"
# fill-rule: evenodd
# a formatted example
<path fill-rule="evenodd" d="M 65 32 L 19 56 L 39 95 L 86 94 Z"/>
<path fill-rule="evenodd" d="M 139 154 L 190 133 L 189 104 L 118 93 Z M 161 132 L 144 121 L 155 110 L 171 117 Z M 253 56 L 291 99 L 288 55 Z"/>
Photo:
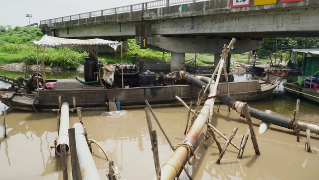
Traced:
<path fill-rule="evenodd" d="M 84 58 L 84 81 L 92 82 L 97 80 L 97 60 L 94 57 Z"/>

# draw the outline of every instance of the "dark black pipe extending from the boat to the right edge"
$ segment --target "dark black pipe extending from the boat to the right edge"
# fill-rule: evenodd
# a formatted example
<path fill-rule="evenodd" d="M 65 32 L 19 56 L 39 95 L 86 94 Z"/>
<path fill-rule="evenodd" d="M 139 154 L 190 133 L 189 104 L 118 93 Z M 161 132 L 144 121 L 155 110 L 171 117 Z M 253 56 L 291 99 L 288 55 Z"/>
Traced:
<path fill-rule="evenodd" d="M 203 77 L 203 76 L 193 77 L 191 75 L 186 75 L 185 80 L 190 82 L 191 84 L 193 84 L 197 88 L 201 88 L 202 86 L 205 86 L 205 87 L 207 86 L 206 83 L 208 83 L 210 81 L 210 78 Z M 223 93 L 220 92 L 219 90 L 217 90 L 216 95 L 218 95 L 218 94 L 223 94 Z M 228 107 L 231 107 L 234 110 L 236 110 L 235 109 L 236 100 L 234 100 L 233 98 L 231 98 L 227 95 L 223 95 L 223 96 L 216 97 L 216 99 L 219 100 L 220 102 L 226 104 Z M 252 107 L 249 107 L 249 111 L 250 111 L 251 117 L 262 120 L 264 122 L 272 123 L 272 124 L 275 124 L 275 125 L 281 126 L 281 127 L 286 127 L 288 129 L 294 129 L 294 127 L 295 127 L 293 119 L 288 119 L 285 117 L 280 117 L 280 116 L 276 116 L 273 114 L 269 114 L 269 113 L 260 111 L 258 109 L 254 109 Z M 308 124 L 308 123 L 298 121 L 298 127 L 300 128 L 301 131 L 306 132 L 306 130 L 309 128 L 312 133 L 319 134 L 319 126 L 317 126 L 317 125 Z"/>

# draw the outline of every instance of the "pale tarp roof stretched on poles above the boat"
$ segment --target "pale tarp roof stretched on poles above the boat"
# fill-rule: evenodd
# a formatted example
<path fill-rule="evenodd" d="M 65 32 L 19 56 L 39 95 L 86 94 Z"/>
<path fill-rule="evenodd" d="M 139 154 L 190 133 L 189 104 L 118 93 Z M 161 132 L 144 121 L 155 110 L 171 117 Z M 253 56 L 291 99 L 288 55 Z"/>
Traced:
<path fill-rule="evenodd" d="M 66 39 L 59 37 L 52 37 L 44 35 L 41 40 L 33 41 L 34 45 L 43 47 L 56 47 L 56 46 L 82 46 L 82 45 L 109 45 L 115 51 L 122 42 L 109 41 L 104 39 Z"/>

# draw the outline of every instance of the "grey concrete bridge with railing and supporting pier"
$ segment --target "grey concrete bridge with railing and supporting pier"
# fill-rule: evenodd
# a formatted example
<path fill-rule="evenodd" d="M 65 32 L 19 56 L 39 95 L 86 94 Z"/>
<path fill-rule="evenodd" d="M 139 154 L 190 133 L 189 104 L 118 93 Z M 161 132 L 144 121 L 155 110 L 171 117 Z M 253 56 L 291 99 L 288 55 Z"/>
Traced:
<path fill-rule="evenodd" d="M 47 19 L 40 27 L 62 38 L 139 44 L 147 37 L 148 48 L 171 52 L 175 71 L 185 53 L 215 53 L 218 63 L 233 37 L 234 54 L 262 48 L 264 37 L 319 37 L 318 17 L 319 0 L 157 0 Z"/>

